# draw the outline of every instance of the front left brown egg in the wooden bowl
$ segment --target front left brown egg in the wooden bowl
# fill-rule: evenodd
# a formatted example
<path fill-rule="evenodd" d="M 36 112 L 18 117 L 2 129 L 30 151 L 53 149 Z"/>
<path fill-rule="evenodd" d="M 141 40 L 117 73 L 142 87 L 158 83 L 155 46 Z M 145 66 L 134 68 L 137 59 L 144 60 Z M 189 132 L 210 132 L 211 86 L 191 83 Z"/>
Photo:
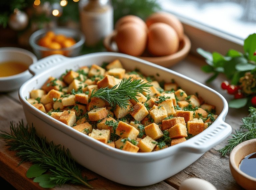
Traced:
<path fill-rule="evenodd" d="M 119 52 L 140 56 L 146 49 L 147 33 L 137 23 L 126 23 L 118 28 L 115 42 Z"/>

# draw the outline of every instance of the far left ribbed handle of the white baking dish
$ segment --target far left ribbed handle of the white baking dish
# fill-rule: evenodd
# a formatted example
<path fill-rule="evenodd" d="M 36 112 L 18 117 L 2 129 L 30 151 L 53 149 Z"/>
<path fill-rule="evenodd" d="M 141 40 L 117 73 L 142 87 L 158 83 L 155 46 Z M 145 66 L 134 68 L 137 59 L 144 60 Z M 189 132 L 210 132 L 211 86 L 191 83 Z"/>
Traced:
<path fill-rule="evenodd" d="M 29 72 L 33 75 L 40 74 L 49 68 L 54 67 L 56 64 L 60 64 L 61 62 L 70 59 L 64 55 L 54 54 L 47 56 L 45 58 L 40 59 L 34 64 L 31 64 L 28 68 Z"/>

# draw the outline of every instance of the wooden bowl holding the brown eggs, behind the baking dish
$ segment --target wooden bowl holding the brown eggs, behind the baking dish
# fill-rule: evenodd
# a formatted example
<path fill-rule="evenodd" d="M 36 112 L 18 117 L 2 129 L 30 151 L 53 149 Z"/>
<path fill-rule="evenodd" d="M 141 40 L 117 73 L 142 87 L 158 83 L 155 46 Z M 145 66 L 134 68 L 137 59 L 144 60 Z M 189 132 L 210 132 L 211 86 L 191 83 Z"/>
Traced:
<path fill-rule="evenodd" d="M 108 51 L 118 52 L 118 47 L 114 41 L 115 36 L 116 31 L 113 31 L 109 36 L 105 37 L 103 40 L 103 44 Z M 184 39 L 180 42 L 179 50 L 176 53 L 167 56 L 154 57 L 151 56 L 147 51 L 145 51 L 143 55 L 138 56 L 138 58 L 150 61 L 160 66 L 171 67 L 172 65 L 175 65 L 179 61 L 183 60 L 188 55 L 190 48 L 191 42 L 189 38 L 186 35 L 184 35 Z"/>

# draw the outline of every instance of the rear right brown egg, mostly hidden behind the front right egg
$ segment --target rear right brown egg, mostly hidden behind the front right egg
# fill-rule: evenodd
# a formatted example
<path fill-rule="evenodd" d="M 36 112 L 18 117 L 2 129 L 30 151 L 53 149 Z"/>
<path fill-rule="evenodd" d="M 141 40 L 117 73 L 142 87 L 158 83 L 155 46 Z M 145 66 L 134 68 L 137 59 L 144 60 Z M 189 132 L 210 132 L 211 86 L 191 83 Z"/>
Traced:
<path fill-rule="evenodd" d="M 183 26 L 181 22 L 174 15 L 166 12 L 159 12 L 159 13 L 154 13 L 150 15 L 146 20 L 146 24 L 148 27 L 158 22 L 170 25 L 177 32 L 179 36 L 179 41 L 183 40 L 183 37 L 184 37 Z"/>

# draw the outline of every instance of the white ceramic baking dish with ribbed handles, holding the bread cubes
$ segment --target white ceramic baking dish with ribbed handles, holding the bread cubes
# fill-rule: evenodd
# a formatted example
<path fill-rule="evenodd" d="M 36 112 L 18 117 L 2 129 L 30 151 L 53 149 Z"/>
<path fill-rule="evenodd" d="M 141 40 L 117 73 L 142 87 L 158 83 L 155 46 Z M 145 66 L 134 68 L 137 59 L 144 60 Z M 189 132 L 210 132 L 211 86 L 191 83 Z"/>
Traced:
<path fill-rule="evenodd" d="M 26 101 L 29 92 L 41 88 L 49 76 L 58 78 L 66 69 L 77 70 L 84 65 L 101 65 L 117 58 L 127 70 L 138 68 L 146 75 L 154 75 L 159 81 L 174 79 L 188 94 L 197 92 L 208 103 L 216 106 L 219 117 L 209 128 L 186 142 L 159 151 L 132 153 L 90 138 L 42 113 Z M 170 69 L 130 55 L 115 52 L 92 53 L 74 58 L 52 55 L 31 65 L 29 70 L 34 76 L 19 90 L 29 126 L 33 124 L 37 134 L 46 137 L 48 142 L 53 141 L 68 148 L 71 157 L 79 164 L 124 185 L 147 186 L 167 179 L 195 162 L 231 134 L 230 125 L 224 122 L 228 104 L 222 95 Z"/>

